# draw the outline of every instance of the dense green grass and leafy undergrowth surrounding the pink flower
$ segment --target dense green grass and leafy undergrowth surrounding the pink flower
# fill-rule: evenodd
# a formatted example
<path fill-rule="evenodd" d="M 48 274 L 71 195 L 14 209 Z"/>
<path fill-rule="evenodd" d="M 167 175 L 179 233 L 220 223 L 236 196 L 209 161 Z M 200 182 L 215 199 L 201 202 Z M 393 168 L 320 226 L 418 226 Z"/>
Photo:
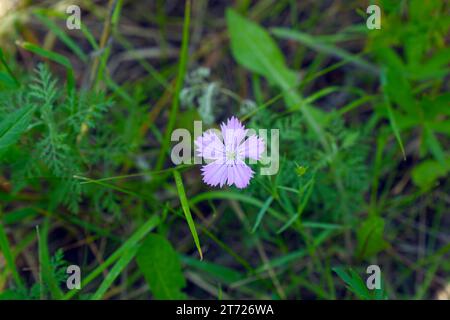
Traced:
<path fill-rule="evenodd" d="M 449 298 L 448 2 L 71 2 L 0 5 L 0 298 Z M 172 163 L 231 116 L 276 175 Z"/>

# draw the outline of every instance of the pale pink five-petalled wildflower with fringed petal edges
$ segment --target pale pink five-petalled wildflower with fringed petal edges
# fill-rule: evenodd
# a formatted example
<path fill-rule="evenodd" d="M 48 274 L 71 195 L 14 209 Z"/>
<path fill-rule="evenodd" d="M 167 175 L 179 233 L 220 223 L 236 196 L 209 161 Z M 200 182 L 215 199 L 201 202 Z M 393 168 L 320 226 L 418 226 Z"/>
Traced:
<path fill-rule="evenodd" d="M 213 130 L 205 131 L 195 140 L 198 156 L 210 161 L 201 169 L 203 181 L 210 186 L 222 187 L 226 183 L 245 188 L 254 172 L 244 160 L 259 160 L 264 140 L 256 135 L 244 140 L 248 130 L 236 117 L 222 123 L 220 128 L 223 141 Z"/>

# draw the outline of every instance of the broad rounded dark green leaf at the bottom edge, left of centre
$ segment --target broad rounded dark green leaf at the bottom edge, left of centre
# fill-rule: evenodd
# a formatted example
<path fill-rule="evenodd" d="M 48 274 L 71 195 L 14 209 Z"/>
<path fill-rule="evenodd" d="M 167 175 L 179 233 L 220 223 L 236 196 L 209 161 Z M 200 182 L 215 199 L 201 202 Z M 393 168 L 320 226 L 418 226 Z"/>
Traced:
<path fill-rule="evenodd" d="M 180 258 L 164 237 L 148 235 L 138 250 L 136 261 L 156 299 L 186 298 L 181 291 L 186 286 L 186 280 L 181 271 Z"/>

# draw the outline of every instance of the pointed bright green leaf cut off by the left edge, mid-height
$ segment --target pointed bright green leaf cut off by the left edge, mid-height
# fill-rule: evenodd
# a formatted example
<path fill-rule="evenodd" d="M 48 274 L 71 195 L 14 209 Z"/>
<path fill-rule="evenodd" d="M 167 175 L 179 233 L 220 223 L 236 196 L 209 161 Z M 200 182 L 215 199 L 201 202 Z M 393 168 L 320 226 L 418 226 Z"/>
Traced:
<path fill-rule="evenodd" d="M 0 156 L 19 140 L 28 127 L 34 107 L 26 106 L 9 114 L 0 122 Z"/>

